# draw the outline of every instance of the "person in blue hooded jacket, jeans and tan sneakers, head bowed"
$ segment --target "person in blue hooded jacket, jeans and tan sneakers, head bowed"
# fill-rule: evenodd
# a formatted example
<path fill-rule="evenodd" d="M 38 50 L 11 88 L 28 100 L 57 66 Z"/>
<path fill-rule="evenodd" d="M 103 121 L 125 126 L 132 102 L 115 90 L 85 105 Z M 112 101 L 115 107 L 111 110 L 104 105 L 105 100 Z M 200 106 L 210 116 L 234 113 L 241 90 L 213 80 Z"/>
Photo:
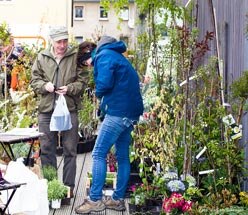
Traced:
<path fill-rule="evenodd" d="M 101 101 L 100 108 L 105 117 L 92 152 L 90 194 L 76 207 L 78 214 L 98 212 L 105 208 L 125 210 L 124 196 L 130 176 L 131 132 L 144 109 L 138 74 L 123 55 L 126 49 L 123 41 L 102 36 L 93 51 L 96 52 L 94 58 L 84 59 L 94 66 L 95 94 Z M 117 185 L 112 197 L 103 199 L 107 154 L 113 145 L 118 166 Z"/>

